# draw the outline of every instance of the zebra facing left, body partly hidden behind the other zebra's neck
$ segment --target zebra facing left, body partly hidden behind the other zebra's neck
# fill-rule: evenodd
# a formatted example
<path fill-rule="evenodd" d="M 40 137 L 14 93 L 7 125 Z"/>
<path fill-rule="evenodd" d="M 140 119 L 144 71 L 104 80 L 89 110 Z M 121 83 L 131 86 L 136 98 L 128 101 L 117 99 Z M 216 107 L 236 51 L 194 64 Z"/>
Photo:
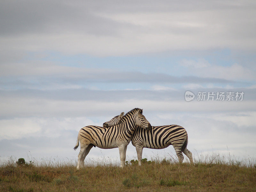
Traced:
<path fill-rule="evenodd" d="M 104 126 L 115 126 L 118 121 L 113 117 L 110 121 L 103 124 Z M 179 125 L 152 126 L 151 130 L 141 129 L 138 127 L 132 135 L 132 145 L 136 148 L 139 165 L 141 165 L 142 149 L 163 149 L 172 145 L 178 156 L 179 162 L 182 163 L 184 156 L 188 156 L 190 163 L 193 164 L 192 153 L 187 149 L 188 133 Z"/>

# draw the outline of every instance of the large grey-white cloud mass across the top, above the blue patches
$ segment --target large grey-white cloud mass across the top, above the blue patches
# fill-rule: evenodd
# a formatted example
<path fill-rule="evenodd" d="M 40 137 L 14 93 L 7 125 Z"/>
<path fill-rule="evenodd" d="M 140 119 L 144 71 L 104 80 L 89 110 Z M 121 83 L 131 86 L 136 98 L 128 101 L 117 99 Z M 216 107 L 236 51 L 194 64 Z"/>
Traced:
<path fill-rule="evenodd" d="M 120 56 L 174 50 L 255 50 L 255 4 L 189 1 L 1 1 L 0 47 Z M 175 7 L 175 9 L 174 9 Z"/>

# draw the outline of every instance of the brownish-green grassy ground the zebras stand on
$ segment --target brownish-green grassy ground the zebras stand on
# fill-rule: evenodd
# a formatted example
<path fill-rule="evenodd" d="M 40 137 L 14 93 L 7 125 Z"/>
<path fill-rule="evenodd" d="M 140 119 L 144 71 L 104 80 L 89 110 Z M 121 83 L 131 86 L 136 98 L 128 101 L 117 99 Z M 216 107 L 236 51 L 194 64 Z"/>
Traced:
<path fill-rule="evenodd" d="M 256 191 L 256 165 L 212 156 L 194 165 L 144 159 L 141 167 L 132 160 L 124 168 L 91 164 L 77 171 L 75 164 L 10 158 L 0 165 L 0 191 Z"/>

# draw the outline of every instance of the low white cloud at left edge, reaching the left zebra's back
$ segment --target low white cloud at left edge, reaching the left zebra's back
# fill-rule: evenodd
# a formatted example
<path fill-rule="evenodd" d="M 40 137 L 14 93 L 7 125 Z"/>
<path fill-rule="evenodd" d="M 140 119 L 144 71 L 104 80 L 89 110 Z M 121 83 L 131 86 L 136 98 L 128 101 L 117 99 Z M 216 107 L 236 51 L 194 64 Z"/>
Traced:
<path fill-rule="evenodd" d="M 0 120 L 0 140 L 20 139 L 28 137 L 56 138 L 64 131 L 77 130 L 86 125 L 102 125 L 101 121 L 92 121 L 85 117 L 25 117 Z"/>

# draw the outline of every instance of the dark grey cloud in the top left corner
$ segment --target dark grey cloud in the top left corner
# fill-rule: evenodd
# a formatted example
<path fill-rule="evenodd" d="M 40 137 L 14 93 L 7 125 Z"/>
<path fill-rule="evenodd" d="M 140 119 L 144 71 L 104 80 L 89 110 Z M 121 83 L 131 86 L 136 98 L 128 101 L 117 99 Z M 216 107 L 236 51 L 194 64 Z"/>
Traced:
<path fill-rule="evenodd" d="M 114 35 L 118 27 L 118 23 L 95 15 L 95 8 L 88 2 L 2 1 L 0 10 L 0 34 L 4 36 L 74 32 Z"/>

